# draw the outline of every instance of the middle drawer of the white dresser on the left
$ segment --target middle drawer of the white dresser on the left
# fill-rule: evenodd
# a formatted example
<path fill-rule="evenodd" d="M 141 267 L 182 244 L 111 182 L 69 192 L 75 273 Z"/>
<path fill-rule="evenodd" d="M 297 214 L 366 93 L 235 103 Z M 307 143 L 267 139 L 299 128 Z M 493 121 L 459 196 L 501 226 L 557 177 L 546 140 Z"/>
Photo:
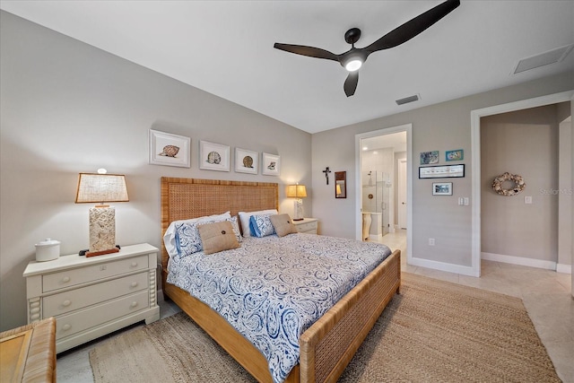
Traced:
<path fill-rule="evenodd" d="M 83 309 L 112 298 L 148 288 L 148 273 L 128 275 L 113 281 L 93 284 L 42 298 L 43 317 L 56 317 L 74 309 Z"/>

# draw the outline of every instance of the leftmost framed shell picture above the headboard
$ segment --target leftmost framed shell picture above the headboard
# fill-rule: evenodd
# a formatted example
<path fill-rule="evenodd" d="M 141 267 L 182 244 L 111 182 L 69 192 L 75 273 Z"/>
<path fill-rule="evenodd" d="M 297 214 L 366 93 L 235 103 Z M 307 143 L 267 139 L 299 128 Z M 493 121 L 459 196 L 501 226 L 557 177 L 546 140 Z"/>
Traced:
<path fill-rule="evenodd" d="M 148 141 L 152 165 L 191 166 L 191 138 L 150 129 Z"/>

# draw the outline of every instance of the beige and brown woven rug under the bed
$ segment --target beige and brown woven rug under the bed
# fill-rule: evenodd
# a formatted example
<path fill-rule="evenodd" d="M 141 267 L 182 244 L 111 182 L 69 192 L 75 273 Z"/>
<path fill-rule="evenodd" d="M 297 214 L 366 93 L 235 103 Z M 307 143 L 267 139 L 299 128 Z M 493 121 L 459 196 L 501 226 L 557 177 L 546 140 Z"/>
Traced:
<path fill-rule="evenodd" d="M 96 383 L 255 381 L 183 313 L 99 344 L 90 362 Z M 521 300 L 404 273 L 339 381 L 561 380 Z"/>

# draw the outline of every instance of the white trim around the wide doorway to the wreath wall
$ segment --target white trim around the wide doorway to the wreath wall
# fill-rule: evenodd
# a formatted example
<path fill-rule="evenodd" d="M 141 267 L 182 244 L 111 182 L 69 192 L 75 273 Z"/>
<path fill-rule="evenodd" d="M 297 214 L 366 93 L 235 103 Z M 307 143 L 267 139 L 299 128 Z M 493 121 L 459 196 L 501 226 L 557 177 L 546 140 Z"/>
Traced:
<path fill-rule="evenodd" d="M 481 118 L 515 110 L 542 107 L 572 100 L 574 91 L 562 91 L 534 99 L 519 100 L 489 108 L 475 109 L 470 113 L 472 147 L 472 268 L 474 276 L 481 275 Z M 573 291 L 574 292 L 574 291 Z"/>

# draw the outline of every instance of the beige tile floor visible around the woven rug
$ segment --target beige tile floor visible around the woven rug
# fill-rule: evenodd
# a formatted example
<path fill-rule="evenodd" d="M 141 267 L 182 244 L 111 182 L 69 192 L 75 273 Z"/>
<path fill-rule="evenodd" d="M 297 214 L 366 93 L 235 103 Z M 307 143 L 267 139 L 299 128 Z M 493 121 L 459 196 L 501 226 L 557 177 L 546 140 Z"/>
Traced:
<path fill-rule="evenodd" d="M 431 278 L 465 284 L 491 292 L 500 292 L 523 300 L 528 315 L 550 355 L 558 376 L 564 383 L 574 383 L 574 300 L 570 295 L 570 274 L 499 262 L 483 261 L 482 276 L 469 277 L 406 265 L 406 235 L 404 231 L 387 234 L 383 241 L 389 248 L 400 248 L 402 270 Z M 161 318 L 179 311 L 171 301 L 162 301 Z M 130 326 L 143 326 L 138 324 Z M 57 381 L 61 383 L 91 383 L 88 353 L 99 342 L 117 336 L 124 330 L 104 336 L 57 355 Z"/>

